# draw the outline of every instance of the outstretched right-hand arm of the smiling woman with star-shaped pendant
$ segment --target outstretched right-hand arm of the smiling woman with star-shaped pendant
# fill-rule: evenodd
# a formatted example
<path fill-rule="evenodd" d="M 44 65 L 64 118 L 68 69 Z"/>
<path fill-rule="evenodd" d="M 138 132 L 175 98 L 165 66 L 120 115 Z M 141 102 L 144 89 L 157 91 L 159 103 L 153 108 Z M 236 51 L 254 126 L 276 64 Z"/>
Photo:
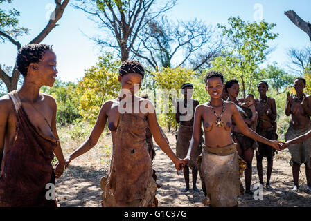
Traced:
<path fill-rule="evenodd" d="M 236 108 L 236 106 L 234 104 L 232 104 L 230 107 L 231 107 L 231 111 L 232 111 L 233 121 L 236 123 L 236 126 L 238 126 L 238 128 L 240 128 L 240 131 L 243 135 L 250 137 L 251 139 L 257 140 L 258 142 L 261 142 L 263 144 L 267 144 L 269 146 L 272 146 L 276 150 L 279 149 L 279 145 L 283 144 L 283 142 L 268 140 L 267 138 L 262 137 L 262 136 L 258 135 L 257 133 L 255 133 L 254 131 L 252 131 L 247 126 L 247 124 L 245 124 L 245 122 L 243 121 L 242 117 L 238 113 L 238 109 Z"/>

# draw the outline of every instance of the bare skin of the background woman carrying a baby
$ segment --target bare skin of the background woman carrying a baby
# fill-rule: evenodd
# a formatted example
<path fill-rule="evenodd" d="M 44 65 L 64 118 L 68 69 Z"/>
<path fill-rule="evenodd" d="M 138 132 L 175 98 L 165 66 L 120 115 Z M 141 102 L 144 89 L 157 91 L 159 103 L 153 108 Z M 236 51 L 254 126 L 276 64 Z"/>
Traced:
<path fill-rule="evenodd" d="M 244 99 L 237 99 L 238 94 L 240 92 L 240 86 L 239 84 L 233 84 L 231 88 L 227 88 L 228 93 L 229 93 L 229 100 L 231 100 L 234 104 L 237 104 L 238 106 L 242 106 L 242 102 L 245 102 Z M 251 126 L 251 124 L 254 124 L 254 118 L 249 119 L 245 118 L 243 119 L 244 122 Z M 236 133 L 241 133 L 240 129 L 236 126 L 236 121 L 233 122 L 233 128 L 232 131 Z M 254 150 L 249 146 L 246 151 L 243 151 L 243 149 L 240 146 L 240 143 L 238 140 L 236 140 L 236 137 L 233 136 L 234 142 L 236 142 L 238 145 L 236 146 L 236 149 L 238 151 L 238 155 L 245 160 L 247 167 L 245 169 L 245 193 L 250 193 L 251 194 L 251 162 L 253 161 L 254 157 Z"/>

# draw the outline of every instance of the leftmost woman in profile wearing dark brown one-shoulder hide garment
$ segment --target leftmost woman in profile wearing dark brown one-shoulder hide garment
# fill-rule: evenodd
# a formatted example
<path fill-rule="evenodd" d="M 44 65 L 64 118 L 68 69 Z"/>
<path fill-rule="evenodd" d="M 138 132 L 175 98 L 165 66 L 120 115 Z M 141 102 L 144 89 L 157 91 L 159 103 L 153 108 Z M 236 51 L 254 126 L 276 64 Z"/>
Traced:
<path fill-rule="evenodd" d="M 42 86 L 55 83 L 56 64 L 55 53 L 45 44 L 28 44 L 18 52 L 23 85 L 0 98 L 0 207 L 57 206 L 55 178 L 62 175 L 65 160 L 55 99 L 40 93 Z"/>

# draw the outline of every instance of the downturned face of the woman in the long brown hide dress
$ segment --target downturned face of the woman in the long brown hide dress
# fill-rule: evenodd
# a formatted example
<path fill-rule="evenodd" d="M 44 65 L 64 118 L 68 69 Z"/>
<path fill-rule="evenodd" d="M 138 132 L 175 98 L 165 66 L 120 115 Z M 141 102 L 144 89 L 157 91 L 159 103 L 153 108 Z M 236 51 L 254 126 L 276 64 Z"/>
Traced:
<path fill-rule="evenodd" d="M 141 88 L 142 79 L 143 77 L 137 73 L 128 73 L 123 76 L 118 76 L 118 81 L 121 83 L 123 92 L 127 94 L 128 91 L 130 91 L 132 96 Z"/>

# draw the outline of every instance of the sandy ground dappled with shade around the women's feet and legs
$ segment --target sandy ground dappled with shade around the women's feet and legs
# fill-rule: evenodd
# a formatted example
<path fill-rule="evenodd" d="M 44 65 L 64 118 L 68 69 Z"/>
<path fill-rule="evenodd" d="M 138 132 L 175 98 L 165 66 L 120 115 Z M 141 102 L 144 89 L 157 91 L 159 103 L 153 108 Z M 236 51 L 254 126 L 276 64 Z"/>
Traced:
<path fill-rule="evenodd" d="M 175 152 L 176 139 L 173 133 L 166 133 L 170 141 L 170 146 Z M 62 139 L 61 139 L 62 140 Z M 70 140 L 65 140 L 62 146 L 64 155 L 69 155 L 83 141 L 71 144 Z M 109 169 L 111 138 L 106 135 L 98 142 L 98 144 L 89 151 L 71 162 L 69 169 L 64 172 L 64 175 L 56 182 L 57 200 L 60 206 L 101 206 L 100 178 L 107 174 Z M 174 164 L 170 159 L 156 146 L 156 157 L 154 160 L 154 169 L 157 171 L 159 184 L 161 188 L 157 190 L 157 199 L 159 206 L 203 206 L 201 203 L 204 199 L 204 193 L 193 191 L 192 178 L 190 173 L 190 191 L 181 193 L 184 189 L 184 175 L 175 169 Z M 293 186 L 292 168 L 289 164 L 290 154 L 287 151 L 281 151 L 274 157 L 274 170 L 272 171 L 271 186 L 272 191 L 263 189 L 263 195 L 258 200 L 254 199 L 253 195 L 242 195 L 238 198 L 240 207 L 254 206 L 311 206 L 311 195 L 303 191 L 306 185 L 305 166 L 301 166 L 299 175 L 299 184 L 302 188 L 299 193 L 291 191 Z M 267 160 L 263 160 L 264 181 L 266 175 Z M 242 178 L 243 184 L 244 177 Z M 256 170 L 256 157 L 253 160 L 253 178 L 251 186 L 258 183 L 258 175 Z M 201 189 L 199 177 L 197 179 L 197 187 Z M 258 189 L 253 189 L 253 191 Z"/>

